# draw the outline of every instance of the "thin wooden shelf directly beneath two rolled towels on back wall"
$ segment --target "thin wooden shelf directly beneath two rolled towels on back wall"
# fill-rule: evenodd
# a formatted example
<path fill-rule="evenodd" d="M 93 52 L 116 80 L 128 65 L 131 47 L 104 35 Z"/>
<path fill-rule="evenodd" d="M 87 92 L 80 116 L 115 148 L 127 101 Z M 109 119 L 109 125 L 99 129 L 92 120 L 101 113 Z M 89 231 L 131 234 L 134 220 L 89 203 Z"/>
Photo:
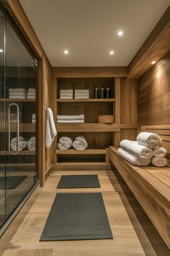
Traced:
<path fill-rule="evenodd" d="M 94 149 L 86 149 L 86 150 L 56 150 L 58 155 L 104 155 L 106 154 L 105 149 L 94 148 Z"/>

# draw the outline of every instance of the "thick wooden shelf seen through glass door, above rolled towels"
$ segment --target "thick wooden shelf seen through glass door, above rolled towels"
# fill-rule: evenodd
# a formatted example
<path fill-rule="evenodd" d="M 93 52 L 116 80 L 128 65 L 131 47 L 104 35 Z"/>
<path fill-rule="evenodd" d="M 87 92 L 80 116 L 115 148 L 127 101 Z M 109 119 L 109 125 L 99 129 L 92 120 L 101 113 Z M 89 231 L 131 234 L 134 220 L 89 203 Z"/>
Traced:
<path fill-rule="evenodd" d="M 0 132 L 4 132 L 4 124 L 0 124 Z M 6 132 L 8 132 L 7 126 L 6 126 Z M 17 132 L 17 124 L 11 124 L 11 132 Z M 35 124 L 32 124 L 32 123 L 19 124 L 19 132 L 35 132 Z"/>

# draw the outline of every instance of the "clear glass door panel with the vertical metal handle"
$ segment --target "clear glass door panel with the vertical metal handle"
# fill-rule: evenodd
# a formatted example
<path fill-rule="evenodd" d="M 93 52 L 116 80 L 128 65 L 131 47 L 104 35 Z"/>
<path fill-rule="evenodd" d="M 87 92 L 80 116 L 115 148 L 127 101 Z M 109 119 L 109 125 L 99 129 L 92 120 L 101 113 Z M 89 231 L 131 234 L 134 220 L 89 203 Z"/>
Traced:
<path fill-rule="evenodd" d="M 6 20 L 6 218 L 35 184 L 34 58 Z"/>

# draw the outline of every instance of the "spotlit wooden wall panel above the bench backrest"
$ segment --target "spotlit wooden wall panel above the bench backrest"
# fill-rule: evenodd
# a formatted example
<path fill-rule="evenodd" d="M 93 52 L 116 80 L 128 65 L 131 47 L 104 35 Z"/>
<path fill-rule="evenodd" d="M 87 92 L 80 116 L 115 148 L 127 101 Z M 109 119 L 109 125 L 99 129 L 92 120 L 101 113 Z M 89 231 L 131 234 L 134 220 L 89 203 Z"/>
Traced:
<path fill-rule="evenodd" d="M 170 51 L 138 80 L 138 124 L 170 123 Z"/>

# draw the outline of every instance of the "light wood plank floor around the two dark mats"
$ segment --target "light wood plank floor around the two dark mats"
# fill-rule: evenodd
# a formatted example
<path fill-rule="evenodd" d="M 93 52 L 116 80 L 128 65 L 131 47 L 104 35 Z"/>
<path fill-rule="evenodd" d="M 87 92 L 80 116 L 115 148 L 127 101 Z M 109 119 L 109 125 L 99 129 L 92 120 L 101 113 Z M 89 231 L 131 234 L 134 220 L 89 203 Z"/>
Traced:
<path fill-rule="evenodd" d="M 101 188 L 56 189 L 62 174 L 98 174 Z M 102 192 L 114 239 L 39 242 L 56 192 Z M 53 171 L 0 239 L 3 256 L 168 256 L 169 249 L 117 171 Z"/>

